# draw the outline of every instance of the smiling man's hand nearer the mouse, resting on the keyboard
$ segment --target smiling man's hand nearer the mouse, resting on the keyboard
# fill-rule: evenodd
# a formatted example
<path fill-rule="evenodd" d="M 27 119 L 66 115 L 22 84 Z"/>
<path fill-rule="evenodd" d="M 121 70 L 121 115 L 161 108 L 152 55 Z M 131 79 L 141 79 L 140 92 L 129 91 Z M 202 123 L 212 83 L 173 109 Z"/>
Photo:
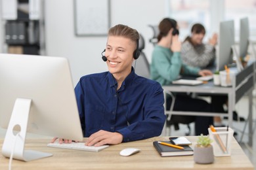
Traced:
<path fill-rule="evenodd" d="M 87 146 L 102 146 L 104 144 L 119 144 L 123 141 L 123 135 L 118 132 L 100 130 L 93 133 L 85 142 Z"/>

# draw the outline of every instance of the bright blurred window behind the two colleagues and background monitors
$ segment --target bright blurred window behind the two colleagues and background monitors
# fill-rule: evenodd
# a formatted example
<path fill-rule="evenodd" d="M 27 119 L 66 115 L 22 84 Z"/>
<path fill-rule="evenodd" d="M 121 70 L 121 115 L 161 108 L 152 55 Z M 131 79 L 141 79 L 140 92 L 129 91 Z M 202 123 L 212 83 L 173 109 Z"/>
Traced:
<path fill-rule="evenodd" d="M 249 18 L 250 37 L 256 41 L 256 0 L 165 0 L 167 16 L 177 20 L 181 40 L 190 35 L 193 24 L 205 26 L 205 41 L 219 32 L 219 22 L 234 20 L 236 41 L 239 41 L 240 19 Z"/>

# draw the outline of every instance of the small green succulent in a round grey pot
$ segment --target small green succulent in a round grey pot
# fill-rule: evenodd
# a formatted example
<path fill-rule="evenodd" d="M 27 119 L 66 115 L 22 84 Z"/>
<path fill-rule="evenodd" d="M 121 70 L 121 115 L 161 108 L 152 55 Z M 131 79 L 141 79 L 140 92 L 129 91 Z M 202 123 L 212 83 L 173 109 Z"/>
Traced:
<path fill-rule="evenodd" d="M 198 137 L 197 144 L 194 147 L 194 161 L 196 163 L 213 163 L 214 155 L 213 146 L 211 145 L 212 142 L 208 135 L 203 136 L 203 134 L 201 134 Z"/>

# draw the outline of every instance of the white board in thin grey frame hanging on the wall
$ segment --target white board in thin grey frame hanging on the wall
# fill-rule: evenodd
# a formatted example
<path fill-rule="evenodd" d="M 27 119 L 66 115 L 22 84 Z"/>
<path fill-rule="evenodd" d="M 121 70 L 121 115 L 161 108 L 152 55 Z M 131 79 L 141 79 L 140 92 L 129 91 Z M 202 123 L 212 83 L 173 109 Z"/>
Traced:
<path fill-rule="evenodd" d="M 102 36 L 110 28 L 110 0 L 75 0 L 75 35 Z"/>

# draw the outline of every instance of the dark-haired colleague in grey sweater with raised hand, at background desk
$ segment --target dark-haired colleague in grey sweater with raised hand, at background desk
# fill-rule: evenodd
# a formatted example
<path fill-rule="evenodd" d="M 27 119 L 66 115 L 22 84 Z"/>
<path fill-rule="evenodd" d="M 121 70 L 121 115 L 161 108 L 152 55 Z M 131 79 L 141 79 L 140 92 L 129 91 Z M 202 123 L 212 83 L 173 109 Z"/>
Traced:
<path fill-rule="evenodd" d="M 183 63 L 201 69 L 215 69 L 215 45 L 217 44 L 217 34 L 214 33 L 208 43 L 203 43 L 205 37 L 205 27 L 202 24 L 194 24 L 191 28 L 191 35 L 186 37 L 181 46 L 181 58 Z M 227 105 L 226 95 L 211 95 L 211 106 L 213 112 L 225 112 L 223 105 Z M 234 120 L 238 115 L 234 112 Z M 240 118 L 244 120 L 244 118 Z M 221 118 L 215 116 L 215 126 L 223 126 Z"/>

